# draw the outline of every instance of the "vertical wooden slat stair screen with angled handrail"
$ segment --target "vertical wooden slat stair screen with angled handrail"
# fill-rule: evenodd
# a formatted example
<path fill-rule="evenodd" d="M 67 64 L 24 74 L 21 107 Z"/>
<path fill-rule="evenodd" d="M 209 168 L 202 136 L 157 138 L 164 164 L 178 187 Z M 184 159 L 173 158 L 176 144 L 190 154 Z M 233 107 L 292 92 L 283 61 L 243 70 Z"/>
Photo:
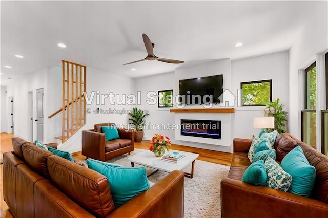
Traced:
<path fill-rule="evenodd" d="M 61 136 L 55 137 L 61 143 L 67 141 L 82 126 L 86 124 L 86 101 L 83 93 L 86 91 L 86 66 L 62 60 L 63 97 L 62 107 L 51 118 L 61 112 Z"/>

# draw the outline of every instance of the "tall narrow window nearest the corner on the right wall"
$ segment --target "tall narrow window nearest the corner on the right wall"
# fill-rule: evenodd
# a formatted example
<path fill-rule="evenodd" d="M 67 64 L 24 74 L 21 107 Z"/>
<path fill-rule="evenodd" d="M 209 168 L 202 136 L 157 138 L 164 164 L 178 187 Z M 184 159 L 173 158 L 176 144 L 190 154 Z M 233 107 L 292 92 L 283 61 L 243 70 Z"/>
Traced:
<path fill-rule="evenodd" d="M 302 141 L 317 149 L 317 69 L 316 62 L 304 71 L 304 109 L 302 111 Z"/>

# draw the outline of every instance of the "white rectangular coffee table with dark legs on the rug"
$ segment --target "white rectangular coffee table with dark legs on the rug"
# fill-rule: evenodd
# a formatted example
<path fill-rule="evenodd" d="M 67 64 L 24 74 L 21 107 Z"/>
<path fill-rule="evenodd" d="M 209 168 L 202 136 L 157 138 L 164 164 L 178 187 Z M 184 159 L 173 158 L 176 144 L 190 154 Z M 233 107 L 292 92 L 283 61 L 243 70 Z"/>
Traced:
<path fill-rule="evenodd" d="M 186 151 L 180 151 L 180 150 L 170 150 L 165 151 L 164 155 L 172 154 L 172 152 L 179 152 L 180 155 L 185 155 L 186 157 L 181 159 L 177 163 L 170 163 L 166 161 L 162 161 L 161 158 L 156 157 L 153 152 L 150 152 L 149 150 L 142 151 L 136 155 L 130 156 L 128 160 L 131 162 L 131 166 L 134 166 L 134 164 L 140 164 L 142 166 L 148 166 L 153 169 L 165 171 L 165 172 L 172 172 L 173 170 L 182 170 L 185 168 L 188 164 L 192 163 L 191 165 L 191 173 L 185 172 L 185 176 L 189 178 L 194 177 L 194 166 L 195 166 L 195 160 L 199 156 L 199 154 L 186 152 Z M 155 173 L 153 172 L 153 173 Z M 153 174 L 151 173 L 151 175 Z M 149 175 L 150 176 L 150 175 Z"/>

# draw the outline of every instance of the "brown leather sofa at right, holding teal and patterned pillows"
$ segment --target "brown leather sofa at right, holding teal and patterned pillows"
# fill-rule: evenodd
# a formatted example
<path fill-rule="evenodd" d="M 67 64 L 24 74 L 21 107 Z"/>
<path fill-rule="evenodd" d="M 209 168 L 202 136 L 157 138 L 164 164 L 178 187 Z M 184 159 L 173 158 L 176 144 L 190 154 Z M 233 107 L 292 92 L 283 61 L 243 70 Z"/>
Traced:
<path fill-rule="evenodd" d="M 328 217 L 328 157 L 289 133 L 277 136 L 276 162 L 300 145 L 309 163 L 316 168 L 310 198 L 272 188 L 241 182 L 251 164 L 247 154 L 251 139 L 234 139 L 234 154 L 228 178 L 221 181 L 221 217 Z"/>

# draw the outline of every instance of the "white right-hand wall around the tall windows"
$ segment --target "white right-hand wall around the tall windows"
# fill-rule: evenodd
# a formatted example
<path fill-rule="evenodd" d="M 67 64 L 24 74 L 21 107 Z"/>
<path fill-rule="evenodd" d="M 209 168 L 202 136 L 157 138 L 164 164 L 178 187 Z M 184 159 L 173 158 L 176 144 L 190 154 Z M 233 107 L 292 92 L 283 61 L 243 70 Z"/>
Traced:
<path fill-rule="evenodd" d="M 328 46 L 327 1 L 317 2 L 316 10 L 289 50 L 289 132 L 301 139 L 303 105 L 303 70 L 317 60 L 316 54 Z M 317 84 L 324 86 L 324 79 Z M 319 103 L 319 102 L 318 102 Z M 317 123 L 318 120 L 317 120 Z M 319 131 L 320 129 L 317 128 Z"/>

